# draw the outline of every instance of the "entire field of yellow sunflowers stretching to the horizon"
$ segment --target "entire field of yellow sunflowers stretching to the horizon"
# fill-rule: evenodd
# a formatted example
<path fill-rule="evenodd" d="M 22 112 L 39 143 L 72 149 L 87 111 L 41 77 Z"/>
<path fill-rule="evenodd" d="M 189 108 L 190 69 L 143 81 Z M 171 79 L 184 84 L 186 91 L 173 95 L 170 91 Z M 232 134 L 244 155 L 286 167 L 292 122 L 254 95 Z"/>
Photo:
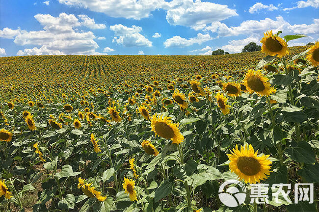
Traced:
<path fill-rule="evenodd" d="M 1 57 L 0 211 L 317 212 L 319 42 L 288 48 L 301 36 L 214 56 Z M 234 207 L 228 180 L 247 190 Z"/>

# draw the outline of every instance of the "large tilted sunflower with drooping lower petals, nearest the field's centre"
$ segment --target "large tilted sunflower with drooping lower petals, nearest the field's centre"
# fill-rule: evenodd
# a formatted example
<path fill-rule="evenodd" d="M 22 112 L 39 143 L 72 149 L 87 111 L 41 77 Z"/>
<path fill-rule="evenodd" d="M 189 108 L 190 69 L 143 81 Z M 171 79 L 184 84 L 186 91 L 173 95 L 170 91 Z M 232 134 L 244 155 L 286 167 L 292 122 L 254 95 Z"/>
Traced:
<path fill-rule="evenodd" d="M 178 129 L 178 124 L 171 123 L 170 117 L 166 116 L 164 119 L 162 115 L 157 116 L 154 114 L 151 119 L 152 131 L 155 132 L 155 135 L 160 137 L 171 139 L 173 143 L 181 143 L 184 140 L 184 136 L 181 134 Z"/>

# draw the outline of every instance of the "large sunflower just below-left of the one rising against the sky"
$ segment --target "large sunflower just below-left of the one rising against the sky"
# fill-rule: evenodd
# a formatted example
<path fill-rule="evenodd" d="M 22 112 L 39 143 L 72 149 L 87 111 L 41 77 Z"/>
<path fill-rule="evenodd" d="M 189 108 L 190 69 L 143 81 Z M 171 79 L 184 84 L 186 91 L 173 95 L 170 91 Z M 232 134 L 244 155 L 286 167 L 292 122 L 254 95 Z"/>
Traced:
<path fill-rule="evenodd" d="M 248 70 L 243 79 L 243 84 L 250 94 L 256 92 L 259 96 L 269 96 L 270 83 L 268 80 L 260 71 Z"/>

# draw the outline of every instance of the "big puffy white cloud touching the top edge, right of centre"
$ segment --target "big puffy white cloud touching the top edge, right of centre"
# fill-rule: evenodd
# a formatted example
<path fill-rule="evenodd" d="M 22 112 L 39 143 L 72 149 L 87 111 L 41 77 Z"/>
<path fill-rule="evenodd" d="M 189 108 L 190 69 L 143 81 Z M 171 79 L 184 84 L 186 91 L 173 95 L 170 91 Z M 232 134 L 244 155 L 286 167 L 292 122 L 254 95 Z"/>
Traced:
<path fill-rule="evenodd" d="M 236 10 L 227 5 L 201 0 L 172 0 L 166 2 L 166 20 L 171 25 L 192 27 L 195 30 L 203 29 L 207 24 L 237 16 Z"/>

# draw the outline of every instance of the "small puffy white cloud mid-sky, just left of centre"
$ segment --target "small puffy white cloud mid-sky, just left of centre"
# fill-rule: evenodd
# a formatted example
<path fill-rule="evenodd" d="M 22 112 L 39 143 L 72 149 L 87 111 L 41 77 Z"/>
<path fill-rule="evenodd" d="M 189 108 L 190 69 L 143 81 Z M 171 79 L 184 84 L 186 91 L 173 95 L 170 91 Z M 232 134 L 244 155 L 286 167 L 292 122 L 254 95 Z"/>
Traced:
<path fill-rule="evenodd" d="M 144 37 L 144 35 L 139 33 L 142 31 L 142 27 L 137 27 L 134 25 L 132 27 L 126 27 L 119 24 L 110 26 L 110 29 L 114 31 L 115 34 L 112 42 L 123 45 L 125 47 L 152 46 L 152 42 Z"/>

